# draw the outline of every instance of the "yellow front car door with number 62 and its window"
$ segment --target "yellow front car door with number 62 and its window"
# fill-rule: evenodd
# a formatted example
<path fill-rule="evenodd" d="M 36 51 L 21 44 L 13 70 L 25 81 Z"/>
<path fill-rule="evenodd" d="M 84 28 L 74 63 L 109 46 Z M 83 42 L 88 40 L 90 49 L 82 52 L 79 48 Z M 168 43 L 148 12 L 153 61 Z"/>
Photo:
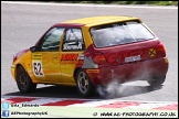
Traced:
<path fill-rule="evenodd" d="M 64 28 L 52 28 L 32 53 L 32 66 L 36 80 L 43 83 L 61 83 L 60 44 Z"/>

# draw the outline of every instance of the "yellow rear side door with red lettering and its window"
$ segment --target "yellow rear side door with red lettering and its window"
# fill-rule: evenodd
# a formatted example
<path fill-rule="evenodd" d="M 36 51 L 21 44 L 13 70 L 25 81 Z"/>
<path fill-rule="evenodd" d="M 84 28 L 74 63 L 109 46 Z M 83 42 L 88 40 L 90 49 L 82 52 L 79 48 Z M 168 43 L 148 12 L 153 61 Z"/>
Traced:
<path fill-rule="evenodd" d="M 74 71 L 85 43 L 80 28 L 69 28 L 65 32 L 61 53 L 61 72 L 64 84 L 74 85 Z"/>

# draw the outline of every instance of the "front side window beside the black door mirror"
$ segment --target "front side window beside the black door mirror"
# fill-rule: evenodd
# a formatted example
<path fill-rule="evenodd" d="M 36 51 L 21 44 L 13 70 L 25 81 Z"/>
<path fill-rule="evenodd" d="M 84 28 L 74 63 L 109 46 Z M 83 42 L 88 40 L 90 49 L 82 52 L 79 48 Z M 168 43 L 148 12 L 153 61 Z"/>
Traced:
<path fill-rule="evenodd" d="M 59 51 L 64 28 L 53 28 L 43 37 L 40 51 Z"/>

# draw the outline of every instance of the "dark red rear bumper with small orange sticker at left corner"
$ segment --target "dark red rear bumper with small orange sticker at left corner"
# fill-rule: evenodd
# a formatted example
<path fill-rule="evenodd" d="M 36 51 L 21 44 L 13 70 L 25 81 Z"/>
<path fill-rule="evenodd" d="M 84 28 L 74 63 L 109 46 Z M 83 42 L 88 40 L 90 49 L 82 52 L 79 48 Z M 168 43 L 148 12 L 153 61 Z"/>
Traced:
<path fill-rule="evenodd" d="M 96 86 L 105 85 L 113 79 L 124 83 L 127 80 L 147 79 L 154 75 L 164 76 L 168 72 L 168 58 L 162 57 L 85 71 L 88 74 L 92 84 Z"/>

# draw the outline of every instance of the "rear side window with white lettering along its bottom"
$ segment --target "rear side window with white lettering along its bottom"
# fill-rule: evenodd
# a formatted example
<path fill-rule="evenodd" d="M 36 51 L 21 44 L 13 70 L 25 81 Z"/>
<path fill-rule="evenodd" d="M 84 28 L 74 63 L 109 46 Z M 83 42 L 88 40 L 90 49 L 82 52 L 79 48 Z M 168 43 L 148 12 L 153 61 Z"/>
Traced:
<path fill-rule="evenodd" d="M 85 44 L 81 29 L 69 29 L 64 36 L 62 51 L 83 51 Z"/>

